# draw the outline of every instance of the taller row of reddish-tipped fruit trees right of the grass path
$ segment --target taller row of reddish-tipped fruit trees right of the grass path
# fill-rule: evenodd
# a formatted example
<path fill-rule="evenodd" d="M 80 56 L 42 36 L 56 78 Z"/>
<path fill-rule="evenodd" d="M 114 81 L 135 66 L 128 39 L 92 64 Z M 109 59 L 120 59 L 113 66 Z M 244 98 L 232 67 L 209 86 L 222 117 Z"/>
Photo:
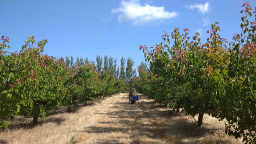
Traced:
<path fill-rule="evenodd" d="M 256 142 L 256 14 L 245 2 L 241 13 L 241 33 L 232 42 L 218 34 L 218 22 L 211 24 L 209 38 L 200 43 L 199 33 L 188 42 L 188 29 L 174 27 L 173 45 L 166 31 L 164 42 L 143 50 L 150 68 L 139 69 L 132 85 L 148 98 L 172 108 L 182 108 L 187 115 L 198 114 L 201 126 L 203 114 L 226 119 L 225 132 L 242 137 L 245 143 Z M 255 13 L 256 7 L 253 8 Z M 252 18 L 253 20 L 249 21 Z M 168 43 L 168 44 L 167 44 Z"/>

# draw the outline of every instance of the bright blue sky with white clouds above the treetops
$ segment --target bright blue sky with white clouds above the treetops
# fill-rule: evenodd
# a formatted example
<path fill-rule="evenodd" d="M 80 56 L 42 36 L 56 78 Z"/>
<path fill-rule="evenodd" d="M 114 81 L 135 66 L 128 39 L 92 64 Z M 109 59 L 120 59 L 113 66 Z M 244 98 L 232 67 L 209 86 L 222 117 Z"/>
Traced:
<path fill-rule="evenodd" d="M 248 0 L 252 9 L 256 0 Z M 9 51 L 19 51 L 27 35 L 47 39 L 43 53 L 52 56 L 97 55 L 144 60 L 138 45 L 162 42 L 163 30 L 189 29 L 206 41 L 218 21 L 221 37 L 240 33 L 244 0 L 1 0 L 0 35 L 10 38 Z"/>

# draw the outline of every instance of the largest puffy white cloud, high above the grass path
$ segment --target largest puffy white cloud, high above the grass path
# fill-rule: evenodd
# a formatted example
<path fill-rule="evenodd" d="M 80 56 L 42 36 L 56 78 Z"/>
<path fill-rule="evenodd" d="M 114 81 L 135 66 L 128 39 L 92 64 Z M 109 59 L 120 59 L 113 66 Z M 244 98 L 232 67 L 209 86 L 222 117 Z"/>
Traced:
<path fill-rule="evenodd" d="M 162 22 L 164 19 L 175 17 L 178 14 L 176 11 L 165 11 L 164 6 L 151 6 L 147 3 L 141 6 L 139 0 L 123 0 L 120 6 L 112 9 L 111 12 L 119 13 L 118 22 L 130 20 L 133 25 Z"/>

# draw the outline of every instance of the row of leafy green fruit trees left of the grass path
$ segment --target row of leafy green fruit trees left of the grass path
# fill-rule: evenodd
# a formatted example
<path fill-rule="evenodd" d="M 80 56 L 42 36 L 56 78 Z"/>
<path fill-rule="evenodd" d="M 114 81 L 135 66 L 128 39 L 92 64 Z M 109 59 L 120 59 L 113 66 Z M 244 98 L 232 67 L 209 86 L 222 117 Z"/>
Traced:
<path fill-rule="evenodd" d="M 110 70 L 98 72 L 93 62 L 68 67 L 63 59 L 42 54 L 46 39 L 28 36 L 20 52 L 7 52 L 0 43 L 0 127 L 17 114 L 45 118 L 52 109 L 87 103 L 126 90 L 126 83 Z M 35 47 L 34 47 L 35 46 Z"/>

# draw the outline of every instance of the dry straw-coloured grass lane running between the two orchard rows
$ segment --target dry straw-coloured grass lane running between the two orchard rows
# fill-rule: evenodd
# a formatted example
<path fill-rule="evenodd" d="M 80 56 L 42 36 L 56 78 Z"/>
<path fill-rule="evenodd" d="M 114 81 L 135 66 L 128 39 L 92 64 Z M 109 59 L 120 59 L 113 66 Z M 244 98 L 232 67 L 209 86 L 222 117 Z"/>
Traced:
<path fill-rule="evenodd" d="M 191 116 L 176 113 L 139 95 L 127 104 L 127 93 L 79 106 L 73 112 L 52 112 L 32 127 L 32 118 L 18 117 L 0 131 L 0 143 L 242 143 L 225 135 L 224 122 L 204 115 L 198 128 Z"/>

